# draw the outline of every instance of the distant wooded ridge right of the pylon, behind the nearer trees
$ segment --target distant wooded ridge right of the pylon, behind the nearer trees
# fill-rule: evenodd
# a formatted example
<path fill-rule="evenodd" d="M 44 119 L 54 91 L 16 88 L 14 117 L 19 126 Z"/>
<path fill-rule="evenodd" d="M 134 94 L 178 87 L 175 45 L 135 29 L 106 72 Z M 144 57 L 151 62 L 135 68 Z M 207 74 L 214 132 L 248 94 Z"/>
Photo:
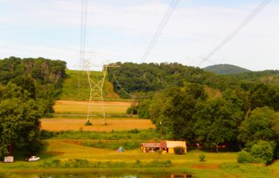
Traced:
<path fill-rule="evenodd" d="M 109 80 L 114 91 L 123 98 L 126 93 L 160 91 L 172 86 L 182 87 L 185 82 L 205 84 L 214 89 L 225 90 L 242 84 L 233 76 L 216 75 L 201 68 L 183 66 L 182 64 L 133 64 L 117 63 L 120 68 L 109 69 Z"/>

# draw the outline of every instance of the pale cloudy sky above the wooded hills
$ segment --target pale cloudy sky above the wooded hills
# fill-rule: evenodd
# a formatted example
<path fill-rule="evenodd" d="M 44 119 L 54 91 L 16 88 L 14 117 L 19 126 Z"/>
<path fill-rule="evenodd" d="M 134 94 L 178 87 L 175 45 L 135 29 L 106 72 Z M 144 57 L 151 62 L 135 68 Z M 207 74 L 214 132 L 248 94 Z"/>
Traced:
<path fill-rule="evenodd" d="M 232 64 L 279 68 L 279 1 L 270 1 L 209 61 L 200 62 L 262 0 L 180 0 L 142 61 L 172 0 L 88 0 L 85 57 L 105 62 L 178 62 L 204 68 Z M 45 57 L 78 69 L 81 0 L 0 0 L 0 59 Z"/>

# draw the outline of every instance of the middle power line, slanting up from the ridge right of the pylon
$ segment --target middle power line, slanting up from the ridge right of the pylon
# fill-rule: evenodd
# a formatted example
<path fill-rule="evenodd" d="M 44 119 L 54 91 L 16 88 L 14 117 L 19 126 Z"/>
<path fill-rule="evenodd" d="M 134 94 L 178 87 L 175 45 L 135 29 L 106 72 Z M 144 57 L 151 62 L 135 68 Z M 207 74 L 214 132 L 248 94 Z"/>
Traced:
<path fill-rule="evenodd" d="M 176 7 L 178 2 L 179 2 L 179 0 L 172 0 L 172 3 L 169 5 L 169 8 L 167 9 L 167 13 L 165 13 L 165 16 L 163 17 L 162 22 L 160 22 L 160 25 L 159 25 L 156 33 L 154 34 L 153 38 L 151 39 L 149 45 L 147 46 L 146 51 L 144 52 L 142 59 L 140 60 L 140 63 L 142 63 L 143 61 L 145 61 L 147 59 L 147 57 L 149 57 L 151 50 L 153 49 L 154 45 L 156 44 L 158 38 L 160 37 L 160 34 L 162 34 L 163 29 L 165 29 L 165 26 L 166 26 L 167 22 L 169 21 L 169 17 L 171 17 L 171 15 L 174 11 L 174 8 Z"/>

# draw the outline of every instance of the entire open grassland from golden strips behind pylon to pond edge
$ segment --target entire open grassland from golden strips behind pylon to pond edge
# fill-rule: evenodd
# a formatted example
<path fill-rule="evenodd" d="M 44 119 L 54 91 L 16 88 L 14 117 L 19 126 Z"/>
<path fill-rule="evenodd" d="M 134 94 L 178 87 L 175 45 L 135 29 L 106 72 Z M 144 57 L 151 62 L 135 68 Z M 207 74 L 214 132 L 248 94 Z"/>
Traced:
<path fill-rule="evenodd" d="M 16 157 L 13 164 L 0 163 L 0 172 L 103 172 L 112 174 L 167 172 L 167 174 L 187 173 L 194 177 L 210 178 L 279 177 L 279 162 L 269 166 L 239 164 L 236 163 L 237 153 L 234 152 L 211 153 L 196 149 L 188 151 L 185 155 L 144 154 L 137 145 L 141 142 L 159 142 L 163 139 L 162 135 L 153 129 L 155 126 L 149 119 L 107 117 L 108 125 L 105 126 L 103 119 L 95 117 L 91 119 L 93 126 L 84 126 L 86 117 L 79 114 L 86 114 L 87 104 L 86 101 L 57 101 L 56 114 L 68 114 L 68 116 L 41 119 L 41 127 L 47 130 L 47 133 L 54 134 L 47 137 L 50 138 L 49 140 L 42 141 L 44 149 L 38 154 L 42 160 L 27 163 L 24 161 L 24 157 Z M 107 113 L 120 115 L 126 112 L 130 103 L 105 102 L 105 105 Z M 75 116 L 75 114 L 77 115 Z M 116 152 L 117 147 L 123 147 L 124 152 Z M 206 161 L 199 161 L 200 154 L 206 156 Z M 91 167 L 84 165 L 75 167 L 73 161 L 88 162 Z M 56 168 L 56 163 L 63 163 L 64 167 Z M 154 165 L 154 163 L 158 163 L 158 165 Z M 165 166 L 165 163 L 171 163 L 171 165 Z M 68 167 L 64 169 L 66 165 Z"/>

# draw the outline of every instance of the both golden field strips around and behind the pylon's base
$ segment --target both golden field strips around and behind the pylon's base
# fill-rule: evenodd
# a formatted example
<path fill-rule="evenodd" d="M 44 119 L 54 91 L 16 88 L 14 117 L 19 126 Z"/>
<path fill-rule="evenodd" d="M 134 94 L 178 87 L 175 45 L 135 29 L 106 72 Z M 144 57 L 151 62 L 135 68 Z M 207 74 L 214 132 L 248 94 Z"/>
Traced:
<path fill-rule="evenodd" d="M 107 115 L 126 114 L 130 102 L 105 101 L 105 113 Z M 155 128 L 149 119 L 137 119 L 134 117 L 106 117 L 107 125 L 104 125 L 103 117 L 91 117 L 92 126 L 84 126 L 88 109 L 88 101 L 56 101 L 55 114 L 61 116 L 41 119 L 41 129 L 47 131 L 124 131 L 131 129 Z M 99 105 L 100 102 L 97 102 Z M 78 116 L 78 115 L 81 116 Z M 97 114 L 100 114 L 100 112 Z M 77 118 L 76 118 L 77 117 Z M 82 119 L 80 119 L 82 118 Z"/>

